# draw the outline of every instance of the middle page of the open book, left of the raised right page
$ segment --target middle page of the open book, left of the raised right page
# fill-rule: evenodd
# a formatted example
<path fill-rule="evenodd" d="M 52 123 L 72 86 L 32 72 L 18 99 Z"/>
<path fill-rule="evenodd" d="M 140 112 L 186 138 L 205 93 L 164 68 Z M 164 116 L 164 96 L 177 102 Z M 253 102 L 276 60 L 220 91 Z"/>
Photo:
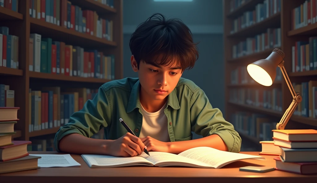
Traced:
<path fill-rule="evenodd" d="M 171 153 L 165 152 L 150 152 L 150 155 L 142 152 L 141 157 L 148 161 L 151 161 L 155 166 L 165 167 L 165 166 L 189 166 L 189 167 L 211 167 L 210 165 L 189 159 L 183 156 L 178 156 Z"/>

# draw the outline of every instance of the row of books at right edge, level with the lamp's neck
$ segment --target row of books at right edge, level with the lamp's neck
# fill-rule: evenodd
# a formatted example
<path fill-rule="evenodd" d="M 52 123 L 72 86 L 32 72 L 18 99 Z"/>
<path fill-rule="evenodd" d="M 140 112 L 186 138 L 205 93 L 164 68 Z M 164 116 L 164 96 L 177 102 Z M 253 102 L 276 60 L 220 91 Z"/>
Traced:
<path fill-rule="evenodd" d="M 308 41 L 296 41 L 292 46 L 293 73 L 317 69 L 316 41 L 317 36 L 309 37 Z"/>

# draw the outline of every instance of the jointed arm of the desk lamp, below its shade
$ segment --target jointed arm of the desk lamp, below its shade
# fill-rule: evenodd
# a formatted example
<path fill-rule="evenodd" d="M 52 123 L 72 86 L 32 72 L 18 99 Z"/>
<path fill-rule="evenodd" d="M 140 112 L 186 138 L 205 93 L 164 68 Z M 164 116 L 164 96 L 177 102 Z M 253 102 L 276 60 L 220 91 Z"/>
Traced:
<path fill-rule="evenodd" d="M 276 129 L 284 129 L 288 120 L 293 115 L 298 103 L 301 102 L 302 98 L 301 98 L 300 93 L 295 92 L 295 89 L 294 89 L 291 81 L 289 80 L 289 77 L 288 77 L 286 70 L 285 70 L 285 67 L 284 67 L 284 60 L 279 64 L 279 67 L 281 68 L 282 74 L 286 80 L 286 84 L 288 85 L 288 88 L 291 91 L 292 96 L 293 96 L 292 103 L 289 105 L 289 107 L 285 111 L 283 117 L 281 118 L 281 121 L 276 124 Z"/>

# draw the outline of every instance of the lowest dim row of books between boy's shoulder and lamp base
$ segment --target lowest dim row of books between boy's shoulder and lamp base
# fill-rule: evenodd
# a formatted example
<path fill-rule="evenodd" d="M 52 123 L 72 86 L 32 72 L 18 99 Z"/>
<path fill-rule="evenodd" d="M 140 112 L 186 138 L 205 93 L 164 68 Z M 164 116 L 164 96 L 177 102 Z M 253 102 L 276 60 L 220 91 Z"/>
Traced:
<path fill-rule="evenodd" d="M 235 130 L 260 141 L 270 141 L 273 136 L 273 129 L 279 121 L 268 118 L 267 115 L 238 111 L 230 116 L 230 122 Z"/>

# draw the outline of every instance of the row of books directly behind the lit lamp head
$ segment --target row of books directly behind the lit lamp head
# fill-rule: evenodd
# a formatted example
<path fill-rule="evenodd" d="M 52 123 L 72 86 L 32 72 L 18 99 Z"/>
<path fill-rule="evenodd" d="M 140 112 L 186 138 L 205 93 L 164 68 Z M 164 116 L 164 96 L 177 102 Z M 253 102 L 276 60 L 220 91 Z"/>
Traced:
<path fill-rule="evenodd" d="M 254 60 L 256 61 L 256 60 Z M 280 67 L 276 67 L 276 77 L 273 82 L 281 81 L 283 75 Z M 230 72 L 230 82 L 233 85 L 254 84 L 256 81 L 251 78 L 247 71 L 247 66 L 238 66 Z"/>

